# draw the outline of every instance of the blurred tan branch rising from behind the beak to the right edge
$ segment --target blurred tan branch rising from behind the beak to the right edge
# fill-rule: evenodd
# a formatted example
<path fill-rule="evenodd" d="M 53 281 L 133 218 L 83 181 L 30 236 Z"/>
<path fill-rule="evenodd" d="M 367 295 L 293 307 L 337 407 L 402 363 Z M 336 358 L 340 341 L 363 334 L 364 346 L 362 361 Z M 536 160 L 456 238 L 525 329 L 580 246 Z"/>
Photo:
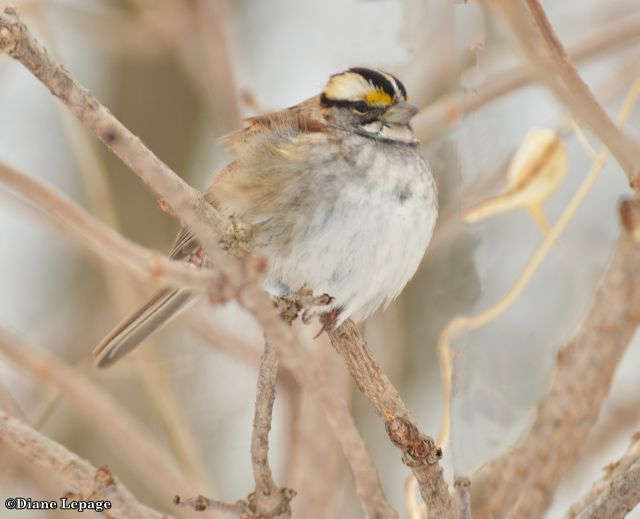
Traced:
<path fill-rule="evenodd" d="M 638 37 L 640 12 L 587 31 L 586 36 L 571 45 L 567 52 L 572 61 L 580 62 Z M 499 73 L 468 92 L 445 94 L 420 111 L 413 119 L 413 127 L 423 141 L 433 139 L 464 116 L 536 79 L 534 68 L 521 66 Z"/>

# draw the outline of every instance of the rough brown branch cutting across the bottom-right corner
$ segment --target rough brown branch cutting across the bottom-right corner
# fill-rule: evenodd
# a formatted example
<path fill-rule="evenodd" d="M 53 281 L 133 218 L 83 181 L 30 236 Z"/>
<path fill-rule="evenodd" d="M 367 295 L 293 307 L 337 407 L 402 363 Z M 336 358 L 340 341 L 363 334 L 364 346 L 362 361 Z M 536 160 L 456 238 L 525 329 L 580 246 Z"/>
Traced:
<path fill-rule="evenodd" d="M 640 434 L 624 456 L 605 468 L 604 477 L 574 504 L 565 519 L 622 519 L 640 503 Z"/>

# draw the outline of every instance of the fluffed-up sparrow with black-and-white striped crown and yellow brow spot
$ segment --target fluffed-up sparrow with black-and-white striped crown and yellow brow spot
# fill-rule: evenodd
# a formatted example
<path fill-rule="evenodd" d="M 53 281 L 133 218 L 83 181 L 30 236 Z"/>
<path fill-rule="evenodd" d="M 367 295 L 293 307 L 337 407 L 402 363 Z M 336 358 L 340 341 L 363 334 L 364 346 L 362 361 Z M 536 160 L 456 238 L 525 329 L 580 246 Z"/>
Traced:
<path fill-rule="evenodd" d="M 222 139 L 233 160 L 205 198 L 249 226 L 274 300 L 311 293 L 320 301 L 312 317 L 339 326 L 386 307 L 413 277 L 438 214 L 436 182 L 410 125 L 417 112 L 399 79 L 353 67 L 331 75 L 320 94 L 249 117 Z M 169 256 L 203 263 L 186 227 Z M 96 364 L 111 365 L 196 296 L 156 292 L 98 344 Z"/>

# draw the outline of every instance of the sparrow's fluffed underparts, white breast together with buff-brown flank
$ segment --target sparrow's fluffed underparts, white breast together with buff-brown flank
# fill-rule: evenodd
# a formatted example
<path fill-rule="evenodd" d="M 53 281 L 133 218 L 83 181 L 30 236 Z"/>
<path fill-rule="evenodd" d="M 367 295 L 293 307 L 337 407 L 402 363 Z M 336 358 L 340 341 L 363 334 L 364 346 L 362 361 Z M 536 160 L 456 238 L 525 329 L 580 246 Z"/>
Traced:
<path fill-rule="evenodd" d="M 435 182 L 416 146 L 285 128 L 244 151 L 211 192 L 223 212 L 253 227 L 269 293 L 328 294 L 324 310 L 340 308 L 339 321 L 364 319 L 400 293 L 437 215 Z"/>

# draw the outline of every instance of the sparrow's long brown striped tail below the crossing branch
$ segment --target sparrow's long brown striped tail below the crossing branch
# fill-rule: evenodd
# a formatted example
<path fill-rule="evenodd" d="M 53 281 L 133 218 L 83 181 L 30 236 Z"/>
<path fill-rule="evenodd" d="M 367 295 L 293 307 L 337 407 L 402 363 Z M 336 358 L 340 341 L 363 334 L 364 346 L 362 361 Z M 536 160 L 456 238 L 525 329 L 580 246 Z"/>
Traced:
<path fill-rule="evenodd" d="M 165 288 L 119 323 L 93 350 L 96 365 L 110 366 L 132 351 L 153 332 L 186 309 L 197 293 L 184 288 Z"/>

